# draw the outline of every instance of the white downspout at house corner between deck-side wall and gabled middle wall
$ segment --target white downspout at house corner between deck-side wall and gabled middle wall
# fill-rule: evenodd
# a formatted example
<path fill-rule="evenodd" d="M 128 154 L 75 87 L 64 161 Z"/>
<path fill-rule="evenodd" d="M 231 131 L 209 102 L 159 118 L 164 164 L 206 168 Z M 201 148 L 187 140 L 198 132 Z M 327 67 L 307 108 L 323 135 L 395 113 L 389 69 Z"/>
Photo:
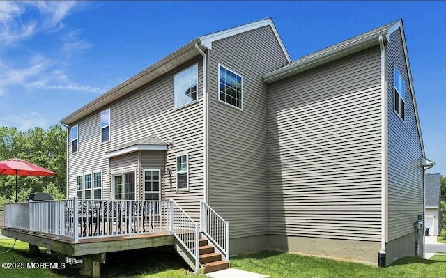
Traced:
<path fill-rule="evenodd" d="M 198 43 L 195 49 L 203 56 L 203 201 L 208 203 L 208 93 L 207 93 L 207 61 L 206 54 L 200 49 Z"/>

